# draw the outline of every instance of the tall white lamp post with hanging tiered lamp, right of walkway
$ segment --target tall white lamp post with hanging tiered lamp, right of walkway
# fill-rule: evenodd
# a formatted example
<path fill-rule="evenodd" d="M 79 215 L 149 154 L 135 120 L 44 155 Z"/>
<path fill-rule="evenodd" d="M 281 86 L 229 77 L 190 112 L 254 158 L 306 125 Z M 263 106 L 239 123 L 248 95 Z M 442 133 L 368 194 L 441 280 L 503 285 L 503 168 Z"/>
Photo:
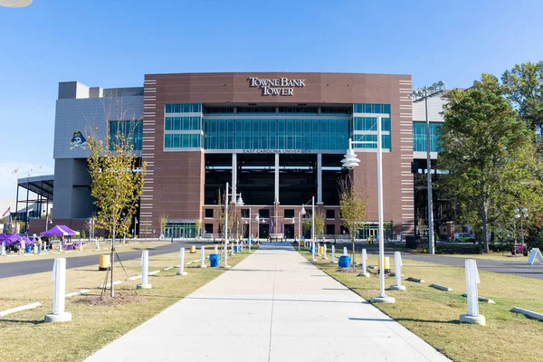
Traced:
<path fill-rule="evenodd" d="M 385 232 L 383 224 L 383 139 L 381 116 L 377 116 L 377 205 L 379 215 L 379 295 L 372 297 L 371 302 L 394 303 L 395 299 L 387 297 L 385 292 Z M 353 144 L 375 144 L 372 141 L 353 141 L 348 138 L 348 150 L 341 160 L 342 166 L 348 169 L 358 166 L 360 160 L 355 154 Z M 353 255 L 354 257 L 354 255 Z M 354 261 L 353 261 L 354 262 Z"/>

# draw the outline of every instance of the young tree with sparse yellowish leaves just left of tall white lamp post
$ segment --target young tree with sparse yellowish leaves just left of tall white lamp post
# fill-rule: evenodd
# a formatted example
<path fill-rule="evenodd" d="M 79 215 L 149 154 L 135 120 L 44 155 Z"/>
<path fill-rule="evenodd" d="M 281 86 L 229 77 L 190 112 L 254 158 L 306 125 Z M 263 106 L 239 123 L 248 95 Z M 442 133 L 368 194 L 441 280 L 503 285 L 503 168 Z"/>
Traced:
<path fill-rule="evenodd" d="M 353 269 L 355 268 L 355 237 L 358 229 L 366 224 L 367 194 L 360 182 L 355 182 L 350 174 L 338 180 L 339 208 L 343 225 L 353 244 Z"/>

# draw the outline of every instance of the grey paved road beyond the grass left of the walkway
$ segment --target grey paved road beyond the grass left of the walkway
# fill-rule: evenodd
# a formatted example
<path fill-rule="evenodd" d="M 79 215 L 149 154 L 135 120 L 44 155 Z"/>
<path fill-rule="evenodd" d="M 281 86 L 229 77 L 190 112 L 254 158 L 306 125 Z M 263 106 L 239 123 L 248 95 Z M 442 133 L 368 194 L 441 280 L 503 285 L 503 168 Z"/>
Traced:
<path fill-rule="evenodd" d="M 205 245 L 210 241 L 176 241 L 166 245 L 149 248 L 149 256 L 166 254 L 168 252 L 178 252 L 181 247 L 190 245 Z M 108 251 L 104 251 L 108 253 Z M 60 256 L 60 255 L 59 255 Z M 141 251 L 119 252 L 121 261 L 138 259 L 141 257 Z M 117 260 L 117 259 L 116 259 Z M 98 264 L 98 254 L 88 256 L 73 256 L 66 258 L 66 269 L 81 268 L 83 266 Z M 24 261 L 24 262 L 4 262 L 0 264 L 0 279 L 16 277 L 19 275 L 34 274 L 36 272 L 52 271 L 52 259 Z"/>

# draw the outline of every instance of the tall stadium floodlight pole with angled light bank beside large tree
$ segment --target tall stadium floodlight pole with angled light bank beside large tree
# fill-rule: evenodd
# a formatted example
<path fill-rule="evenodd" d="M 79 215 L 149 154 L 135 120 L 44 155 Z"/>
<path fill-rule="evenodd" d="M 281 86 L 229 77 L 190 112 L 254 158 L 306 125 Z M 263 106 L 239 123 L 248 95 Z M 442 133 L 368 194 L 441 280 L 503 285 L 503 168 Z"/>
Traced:
<path fill-rule="evenodd" d="M 430 139 L 430 120 L 428 119 L 428 98 L 445 91 L 445 83 L 437 81 L 431 86 L 423 87 L 413 91 L 413 102 L 417 103 L 424 100 L 424 114 L 426 117 L 426 183 L 428 188 L 428 249 L 431 254 L 434 253 L 433 241 L 433 202 L 432 202 L 432 159 L 431 139 Z"/>

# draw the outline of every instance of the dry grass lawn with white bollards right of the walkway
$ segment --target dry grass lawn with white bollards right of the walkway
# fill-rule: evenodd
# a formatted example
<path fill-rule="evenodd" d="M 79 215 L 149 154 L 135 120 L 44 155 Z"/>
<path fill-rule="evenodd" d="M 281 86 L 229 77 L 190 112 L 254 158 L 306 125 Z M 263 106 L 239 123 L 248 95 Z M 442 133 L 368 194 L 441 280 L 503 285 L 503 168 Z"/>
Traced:
<path fill-rule="evenodd" d="M 301 252 L 310 259 L 310 253 Z M 357 262 L 360 256 L 357 255 Z M 377 256 L 368 255 L 368 264 L 376 265 Z M 394 258 L 391 258 L 394 269 Z M 458 361 L 540 361 L 538 352 L 543 346 L 543 323 L 511 313 L 512 307 L 543 312 L 543 282 L 487 271 L 479 271 L 479 295 L 497 304 L 480 303 L 480 313 L 486 318 L 485 327 L 460 324 L 460 314 L 467 313 L 463 268 L 429 262 L 404 260 L 402 273 L 406 291 L 386 291 L 395 304 L 376 304 L 391 318 L 423 338 L 434 348 Z M 361 297 L 369 300 L 378 295 L 379 278 L 376 270 L 369 270 L 370 278 L 357 273 L 339 272 L 329 261 L 315 262 L 321 270 L 340 281 Z M 405 281 L 408 276 L 426 283 Z M 438 291 L 430 283 L 443 284 L 453 291 Z M 386 288 L 395 284 L 394 277 L 386 277 Z"/>

